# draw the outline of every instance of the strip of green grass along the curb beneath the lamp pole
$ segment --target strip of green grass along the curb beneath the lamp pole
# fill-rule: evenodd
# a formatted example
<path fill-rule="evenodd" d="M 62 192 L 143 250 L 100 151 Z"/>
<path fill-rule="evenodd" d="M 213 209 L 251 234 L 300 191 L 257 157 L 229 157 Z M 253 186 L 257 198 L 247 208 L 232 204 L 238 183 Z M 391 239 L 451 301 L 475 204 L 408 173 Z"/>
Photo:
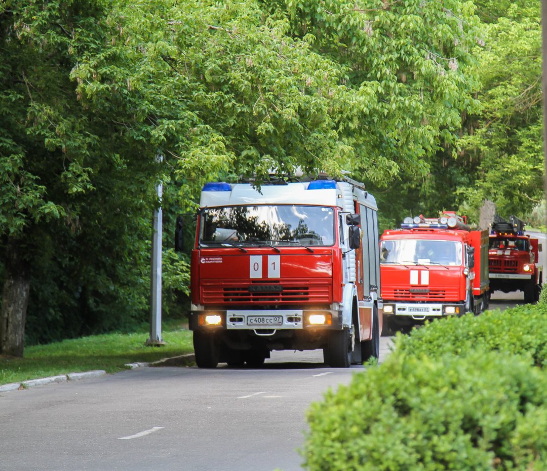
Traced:
<path fill-rule="evenodd" d="M 127 363 L 155 362 L 192 353 L 191 332 L 177 321 L 164 324 L 164 346 L 146 346 L 148 325 L 133 333 L 109 333 L 68 339 L 25 349 L 25 357 L 0 355 L 0 385 L 80 371 L 116 373 Z"/>

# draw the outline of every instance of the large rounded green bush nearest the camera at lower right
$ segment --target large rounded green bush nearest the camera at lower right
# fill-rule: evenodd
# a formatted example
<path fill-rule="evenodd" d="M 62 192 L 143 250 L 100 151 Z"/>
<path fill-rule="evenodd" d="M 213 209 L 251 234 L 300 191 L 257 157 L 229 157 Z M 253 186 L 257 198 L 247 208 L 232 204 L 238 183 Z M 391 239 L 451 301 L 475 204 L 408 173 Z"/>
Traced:
<path fill-rule="evenodd" d="M 547 467 L 547 378 L 496 352 L 394 352 L 312 404 L 307 420 L 310 471 Z"/>

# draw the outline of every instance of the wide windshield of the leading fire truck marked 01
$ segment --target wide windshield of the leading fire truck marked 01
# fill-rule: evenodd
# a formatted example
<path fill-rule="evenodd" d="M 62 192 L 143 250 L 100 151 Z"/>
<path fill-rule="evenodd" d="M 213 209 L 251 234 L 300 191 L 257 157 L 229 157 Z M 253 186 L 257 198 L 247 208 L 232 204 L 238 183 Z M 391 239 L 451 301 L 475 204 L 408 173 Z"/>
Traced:
<path fill-rule="evenodd" d="M 255 205 L 205 208 L 201 214 L 201 247 L 219 243 L 238 246 L 331 246 L 334 209 L 325 206 Z"/>

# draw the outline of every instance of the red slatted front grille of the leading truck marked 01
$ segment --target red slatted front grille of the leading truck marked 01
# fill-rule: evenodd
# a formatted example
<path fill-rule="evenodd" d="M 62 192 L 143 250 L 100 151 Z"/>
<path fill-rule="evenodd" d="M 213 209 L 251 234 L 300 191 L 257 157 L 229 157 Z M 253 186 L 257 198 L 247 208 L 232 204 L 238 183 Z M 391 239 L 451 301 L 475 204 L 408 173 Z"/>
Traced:
<path fill-rule="evenodd" d="M 271 289 L 268 289 L 271 288 Z M 331 303 L 332 287 L 322 280 L 283 281 L 281 286 L 255 288 L 248 282 L 204 282 L 201 288 L 205 304 L 294 304 L 301 302 Z"/>

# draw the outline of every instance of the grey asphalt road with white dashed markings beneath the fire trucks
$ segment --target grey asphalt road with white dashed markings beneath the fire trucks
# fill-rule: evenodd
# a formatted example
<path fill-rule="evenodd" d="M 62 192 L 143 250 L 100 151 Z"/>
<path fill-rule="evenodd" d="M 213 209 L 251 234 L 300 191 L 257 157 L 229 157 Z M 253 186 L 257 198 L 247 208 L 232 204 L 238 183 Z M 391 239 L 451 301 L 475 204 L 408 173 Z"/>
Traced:
<path fill-rule="evenodd" d="M 491 307 L 519 302 L 498 292 Z M 141 368 L 0 393 L 0 471 L 300 470 L 307 408 L 359 371 L 273 352 L 261 369 Z"/>

